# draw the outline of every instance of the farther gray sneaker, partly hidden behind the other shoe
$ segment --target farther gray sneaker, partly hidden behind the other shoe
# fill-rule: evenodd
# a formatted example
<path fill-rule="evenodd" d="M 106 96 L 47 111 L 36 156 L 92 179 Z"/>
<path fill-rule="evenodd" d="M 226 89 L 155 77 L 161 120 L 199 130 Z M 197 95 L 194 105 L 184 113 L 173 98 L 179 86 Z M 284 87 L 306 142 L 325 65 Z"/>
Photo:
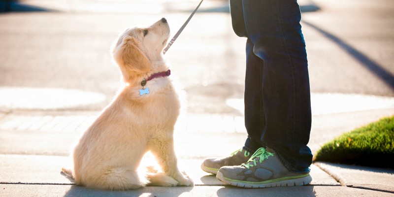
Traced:
<path fill-rule="evenodd" d="M 251 155 L 247 150 L 241 148 L 231 153 L 227 158 L 206 159 L 201 164 L 201 169 L 208 173 L 216 174 L 222 166 L 243 164 L 249 160 L 250 156 Z"/>

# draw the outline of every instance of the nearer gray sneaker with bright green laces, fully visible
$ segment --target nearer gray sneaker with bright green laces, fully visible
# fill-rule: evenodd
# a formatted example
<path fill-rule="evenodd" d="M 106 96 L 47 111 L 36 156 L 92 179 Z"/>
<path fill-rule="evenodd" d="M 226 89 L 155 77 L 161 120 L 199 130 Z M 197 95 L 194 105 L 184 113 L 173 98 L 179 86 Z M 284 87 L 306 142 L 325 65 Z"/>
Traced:
<path fill-rule="evenodd" d="M 245 188 L 302 186 L 312 181 L 309 173 L 290 172 L 269 148 L 260 148 L 245 164 L 221 167 L 216 178 Z"/>

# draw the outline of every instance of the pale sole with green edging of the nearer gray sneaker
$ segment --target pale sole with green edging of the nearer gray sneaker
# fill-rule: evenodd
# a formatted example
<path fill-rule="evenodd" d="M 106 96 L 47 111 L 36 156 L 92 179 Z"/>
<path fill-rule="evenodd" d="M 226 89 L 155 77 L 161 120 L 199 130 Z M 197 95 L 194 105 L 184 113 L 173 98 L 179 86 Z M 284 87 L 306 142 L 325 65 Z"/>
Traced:
<path fill-rule="evenodd" d="M 216 178 L 219 179 L 219 181 L 222 181 L 223 183 L 226 183 L 228 185 L 236 186 L 236 187 L 242 187 L 242 188 L 271 188 L 271 187 L 285 187 L 285 186 L 303 186 L 303 185 L 308 185 L 312 181 L 312 177 L 309 174 L 306 174 L 304 177 L 300 178 L 293 178 L 293 179 L 287 179 L 287 180 L 281 180 L 277 182 L 272 182 L 272 183 L 245 183 L 245 182 L 238 182 L 235 180 L 231 180 L 229 178 L 226 178 L 223 176 L 223 173 L 218 171 L 216 174 Z"/>

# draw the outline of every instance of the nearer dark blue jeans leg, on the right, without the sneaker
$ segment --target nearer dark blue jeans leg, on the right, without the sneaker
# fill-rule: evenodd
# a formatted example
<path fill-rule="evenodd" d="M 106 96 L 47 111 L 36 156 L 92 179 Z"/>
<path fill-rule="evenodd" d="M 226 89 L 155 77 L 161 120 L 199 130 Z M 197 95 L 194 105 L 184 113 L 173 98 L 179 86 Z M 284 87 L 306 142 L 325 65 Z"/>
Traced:
<path fill-rule="evenodd" d="M 243 0 L 254 53 L 264 61 L 261 140 L 293 172 L 308 172 L 311 128 L 308 63 L 295 0 Z"/>

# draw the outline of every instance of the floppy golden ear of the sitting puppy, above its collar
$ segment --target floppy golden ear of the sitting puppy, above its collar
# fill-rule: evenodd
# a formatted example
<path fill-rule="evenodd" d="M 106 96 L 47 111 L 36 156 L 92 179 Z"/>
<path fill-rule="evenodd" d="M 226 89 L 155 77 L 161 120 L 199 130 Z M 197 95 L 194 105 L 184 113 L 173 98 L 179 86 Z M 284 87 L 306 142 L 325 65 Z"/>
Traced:
<path fill-rule="evenodd" d="M 140 49 L 140 43 L 135 38 L 127 35 L 114 50 L 114 59 L 128 70 L 147 72 L 150 62 Z"/>

